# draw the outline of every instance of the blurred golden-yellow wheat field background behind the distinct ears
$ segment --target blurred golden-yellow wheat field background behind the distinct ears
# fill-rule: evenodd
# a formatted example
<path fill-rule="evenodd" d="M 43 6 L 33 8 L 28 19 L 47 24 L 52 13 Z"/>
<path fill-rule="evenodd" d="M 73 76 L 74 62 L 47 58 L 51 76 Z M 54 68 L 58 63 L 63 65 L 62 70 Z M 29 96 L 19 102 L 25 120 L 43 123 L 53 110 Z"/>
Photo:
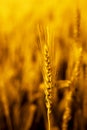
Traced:
<path fill-rule="evenodd" d="M 68 129 L 87 129 L 87 104 L 84 105 L 87 95 L 86 5 L 86 0 L 0 1 L 0 130 L 47 129 L 38 23 L 48 25 L 51 30 L 55 53 L 52 62 L 57 81 L 70 79 L 78 47 L 83 48 L 78 92 L 74 95 Z M 76 7 L 81 13 L 81 43 L 75 44 Z M 64 91 L 56 86 L 53 93 L 55 123 L 52 130 L 61 130 Z"/>

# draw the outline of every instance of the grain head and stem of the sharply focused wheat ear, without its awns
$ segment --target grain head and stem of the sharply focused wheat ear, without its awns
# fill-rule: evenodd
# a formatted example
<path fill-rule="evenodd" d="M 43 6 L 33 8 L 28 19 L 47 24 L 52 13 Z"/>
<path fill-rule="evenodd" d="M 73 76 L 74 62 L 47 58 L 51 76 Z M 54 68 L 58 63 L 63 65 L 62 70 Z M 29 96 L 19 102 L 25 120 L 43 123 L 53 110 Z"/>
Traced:
<path fill-rule="evenodd" d="M 46 107 L 47 107 L 47 118 L 48 118 L 48 130 L 51 128 L 50 124 L 50 113 L 52 103 L 52 71 L 49 57 L 49 51 L 47 45 L 44 45 L 44 83 L 45 83 L 45 95 L 46 95 Z"/>

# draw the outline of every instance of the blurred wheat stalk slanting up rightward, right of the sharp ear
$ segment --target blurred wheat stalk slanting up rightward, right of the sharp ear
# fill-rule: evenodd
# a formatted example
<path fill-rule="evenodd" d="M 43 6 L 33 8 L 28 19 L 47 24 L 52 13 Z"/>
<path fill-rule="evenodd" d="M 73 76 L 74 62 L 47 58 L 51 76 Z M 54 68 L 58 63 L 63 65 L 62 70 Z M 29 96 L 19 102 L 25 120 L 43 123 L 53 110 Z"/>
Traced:
<path fill-rule="evenodd" d="M 62 125 L 62 130 L 67 130 L 67 125 L 69 120 L 71 119 L 71 104 L 72 104 L 72 96 L 73 96 L 73 92 L 75 91 L 75 82 L 78 80 L 79 75 L 80 75 L 80 63 L 82 60 L 82 49 L 80 48 L 80 54 L 79 54 L 79 58 L 76 62 L 73 74 L 71 76 L 71 80 L 70 82 L 68 82 L 68 93 L 66 95 L 66 104 L 65 104 L 65 113 L 63 116 L 63 125 Z"/>

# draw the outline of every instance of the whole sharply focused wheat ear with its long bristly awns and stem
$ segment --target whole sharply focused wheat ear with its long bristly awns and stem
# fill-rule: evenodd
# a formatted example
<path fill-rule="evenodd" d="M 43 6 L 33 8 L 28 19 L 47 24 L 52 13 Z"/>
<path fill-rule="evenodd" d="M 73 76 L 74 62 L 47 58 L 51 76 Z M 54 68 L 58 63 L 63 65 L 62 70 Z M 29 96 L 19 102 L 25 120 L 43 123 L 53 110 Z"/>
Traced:
<path fill-rule="evenodd" d="M 52 66 L 51 66 L 51 58 L 49 53 L 49 31 L 48 28 L 43 29 L 43 27 L 39 26 L 39 35 L 40 35 L 40 43 L 42 50 L 42 74 L 44 78 L 44 93 L 46 99 L 46 107 L 47 107 L 47 120 L 48 120 L 48 130 L 51 130 L 51 103 L 52 103 Z"/>

